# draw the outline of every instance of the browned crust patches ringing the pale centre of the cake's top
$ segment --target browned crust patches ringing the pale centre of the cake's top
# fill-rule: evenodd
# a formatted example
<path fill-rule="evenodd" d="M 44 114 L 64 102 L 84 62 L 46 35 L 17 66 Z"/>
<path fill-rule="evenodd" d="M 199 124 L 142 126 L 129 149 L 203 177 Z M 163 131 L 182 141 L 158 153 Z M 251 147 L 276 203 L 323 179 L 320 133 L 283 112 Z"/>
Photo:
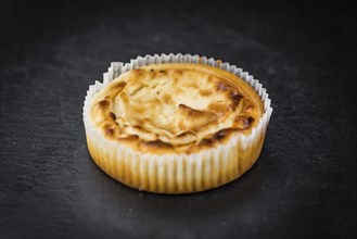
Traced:
<path fill-rule="evenodd" d="M 209 134 L 201 139 L 201 141 L 192 141 L 192 143 L 170 144 L 162 140 L 143 140 L 137 135 L 123 135 L 123 128 L 118 124 L 117 115 L 112 111 L 113 101 L 126 87 L 125 81 L 113 81 L 104 90 L 100 91 L 93 99 L 90 110 L 92 122 L 98 128 L 102 129 L 102 134 L 110 140 L 115 140 L 118 143 L 125 143 L 135 150 L 144 153 L 165 154 L 165 153 L 186 153 L 191 154 L 201 150 L 216 148 L 220 143 L 227 142 L 235 134 L 248 135 L 252 128 L 256 127 L 263 115 L 263 102 L 254 89 L 238 76 L 207 65 L 188 64 L 188 63 L 167 63 L 149 65 L 131 71 L 130 78 L 139 80 L 142 75 L 149 75 L 152 78 L 157 76 L 174 75 L 174 80 L 180 80 L 180 75 L 184 71 L 199 71 L 209 75 L 208 80 L 216 80 L 216 90 L 227 95 L 230 104 L 213 103 L 208 105 L 206 111 L 197 111 L 188 105 L 180 104 L 179 111 L 182 117 L 187 121 L 179 122 L 180 127 L 192 131 L 199 131 L 217 122 L 217 118 L 241 109 L 241 114 L 235 117 L 232 127 L 224 128 L 214 134 Z M 218 79 L 218 80 L 217 80 Z M 192 87 L 196 87 L 192 83 Z M 140 90 L 140 89 L 138 89 Z M 136 93 L 136 92 L 132 92 Z M 160 92 L 157 92 L 160 93 Z M 208 96 L 209 90 L 199 90 L 201 96 Z M 166 103 L 170 102 L 170 96 L 166 95 L 163 98 Z M 243 99 L 243 100 L 242 100 Z M 128 99 L 124 99 L 128 100 Z M 207 120 L 208 118 L 208 120 Z M 139 129 L 140 130 L 140 129 Z"/>

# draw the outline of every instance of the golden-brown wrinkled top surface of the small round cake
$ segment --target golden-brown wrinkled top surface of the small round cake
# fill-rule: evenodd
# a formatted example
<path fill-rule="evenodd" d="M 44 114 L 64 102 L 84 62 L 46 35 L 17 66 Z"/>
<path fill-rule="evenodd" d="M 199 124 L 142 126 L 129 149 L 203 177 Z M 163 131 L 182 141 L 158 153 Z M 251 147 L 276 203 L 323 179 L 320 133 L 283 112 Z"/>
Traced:
<path fill-rule="evenodd" d="M 148 153 L 193 153 L 250 134 L 263 102 L 238 76 L 207 65 L 154 64 L 120 75 L 91 101 L 106 138 Z"/>

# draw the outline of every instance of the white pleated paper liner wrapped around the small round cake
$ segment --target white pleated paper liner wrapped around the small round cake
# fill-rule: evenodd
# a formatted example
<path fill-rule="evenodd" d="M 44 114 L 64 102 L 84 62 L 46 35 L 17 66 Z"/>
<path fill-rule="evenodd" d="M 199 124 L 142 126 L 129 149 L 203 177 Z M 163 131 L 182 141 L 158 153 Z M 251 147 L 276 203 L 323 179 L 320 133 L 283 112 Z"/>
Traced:
<path fill-rule="evenodd" d="M 106 139 L 89 116 L 92 97 L 120 74 L 150 64 L 195 63 L 226 70 L 245 80 L 264 102 L 264 115 L 250 135 L 238 134 L 217 148 L 192 154 L 145 154 Z M 191 193 L 227 184 L 245 173 L 260 154 L 272 113 L 262 84 L 247 72 L 212 58 L 191 54 L 138 56 L 130 63 L 113 62 L 103 83 L 89 87 L 84 105 L 84 123 L 89 152 L 95 164 L 116 180 L 139 190 L 158 193 Z"/>

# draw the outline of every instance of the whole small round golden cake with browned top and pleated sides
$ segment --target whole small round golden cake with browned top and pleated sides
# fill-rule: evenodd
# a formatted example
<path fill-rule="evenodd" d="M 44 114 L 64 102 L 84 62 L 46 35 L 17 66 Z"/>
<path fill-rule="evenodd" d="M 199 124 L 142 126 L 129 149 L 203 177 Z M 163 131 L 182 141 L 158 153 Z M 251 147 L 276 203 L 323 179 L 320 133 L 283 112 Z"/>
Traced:
<path fill-rule="evenodd" d="M 269 117 L 259 90 L 220 67 L 149 61 L 92 88 L 84 112 L 89 152 L 106 174 L 140 190 L 218 187 L 260 153 Z"/>

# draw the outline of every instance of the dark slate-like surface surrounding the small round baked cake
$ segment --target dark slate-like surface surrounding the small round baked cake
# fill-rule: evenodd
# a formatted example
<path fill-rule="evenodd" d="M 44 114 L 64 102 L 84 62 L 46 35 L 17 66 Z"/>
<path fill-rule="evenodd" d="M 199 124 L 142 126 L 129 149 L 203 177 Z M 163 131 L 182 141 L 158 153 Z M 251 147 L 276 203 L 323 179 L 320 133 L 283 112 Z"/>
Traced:
<path fill-rule="evenodd" d="M 354 238 L 357 21 L 342 1 L 1 1 L 1 238 Z M 260 79 L 273 114 L 240 179 L 129 189 L 91 161 L 88 86 L 112 61 L 197 53 Z"/>

